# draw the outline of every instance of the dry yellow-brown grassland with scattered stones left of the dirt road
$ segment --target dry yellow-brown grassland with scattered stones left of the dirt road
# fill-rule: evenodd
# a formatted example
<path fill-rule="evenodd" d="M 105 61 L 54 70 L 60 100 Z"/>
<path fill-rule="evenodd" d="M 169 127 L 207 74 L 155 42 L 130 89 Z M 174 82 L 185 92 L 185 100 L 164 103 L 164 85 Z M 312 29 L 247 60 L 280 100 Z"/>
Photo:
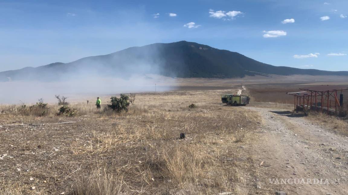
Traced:
<path fill-rule="evenodd" d="M 93 103 L 71 104 L 75 117 L 56 116 L 56 105 L 44 117 L 2 106 L 0 194 L 255 193 L 259 162 L 243 145 L 257 139 L 260 118 L 222 105 L 225 92 L 137 94 L 119 115 Z M 64 121 L 77 122 L 4 126 Z"/>

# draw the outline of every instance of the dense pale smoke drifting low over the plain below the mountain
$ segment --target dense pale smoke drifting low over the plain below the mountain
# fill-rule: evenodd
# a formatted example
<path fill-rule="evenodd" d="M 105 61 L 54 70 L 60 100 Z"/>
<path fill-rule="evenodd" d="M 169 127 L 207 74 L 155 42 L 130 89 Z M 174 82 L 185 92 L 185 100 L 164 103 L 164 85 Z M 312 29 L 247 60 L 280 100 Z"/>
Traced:
<path fill-rule="evenodd" d="M 90 97 L 130 92 L 155 91 L 155 84 L 161 83 L 156 75 L 132 75 L 128 79 L 112 77 L 85 77 L 58 82 L 13 81 L 0 82 L 1 104 L 35 103 L 43 98 L 47 103 L 56 102 L 54 95 L 69 97 L 68 101 L 85 100 Z M 150 77 L 152 76 L 152 77 Z M 170 90 L 157 87 L 157 91 Z M 91 99 L 89 99 L 91 100 Z"/>

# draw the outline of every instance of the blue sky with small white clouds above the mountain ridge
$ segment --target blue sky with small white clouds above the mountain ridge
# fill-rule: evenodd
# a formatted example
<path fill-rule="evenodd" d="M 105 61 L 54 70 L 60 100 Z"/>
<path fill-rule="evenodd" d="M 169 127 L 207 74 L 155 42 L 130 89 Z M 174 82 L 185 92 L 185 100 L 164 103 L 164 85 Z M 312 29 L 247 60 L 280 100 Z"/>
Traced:
<path fill-rule="evenodd" d="M 181 40 L 348 70 L 347 16 L 347 0 L 0 0 L 0 71 Z"/>

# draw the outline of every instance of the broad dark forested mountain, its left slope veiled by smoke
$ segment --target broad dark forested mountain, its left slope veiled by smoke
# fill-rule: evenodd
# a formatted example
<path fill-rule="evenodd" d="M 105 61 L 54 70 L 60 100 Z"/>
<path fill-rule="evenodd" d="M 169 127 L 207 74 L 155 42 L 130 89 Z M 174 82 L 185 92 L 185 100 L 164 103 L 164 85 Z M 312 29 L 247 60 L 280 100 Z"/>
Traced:
<path fill-rule="evenodd" d="M 70 63 L 51 63 L 36 68 L 0 72 L 0 81 L 61 80 L 79 76 L 128 77 L 132 74 L 160 74 L 170 77 L 231 78 L 246 75 L 344 75 L 348 71 L 324 71 L 272 66 L 237 52 L 180 41 L 132 47 Z"/>

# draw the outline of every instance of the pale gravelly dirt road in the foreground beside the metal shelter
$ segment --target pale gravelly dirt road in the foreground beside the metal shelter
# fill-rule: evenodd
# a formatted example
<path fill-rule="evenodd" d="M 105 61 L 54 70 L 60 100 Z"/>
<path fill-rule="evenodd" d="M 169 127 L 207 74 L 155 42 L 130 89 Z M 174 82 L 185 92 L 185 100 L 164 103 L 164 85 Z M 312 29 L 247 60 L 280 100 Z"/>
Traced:
<path fill-rule="evenodd" d="M 286 110 L 243 107 L 263 118 L 253 146 L 264 161 L 257 188 L 264 194 L 348 194 L 348 139 Z"/>

